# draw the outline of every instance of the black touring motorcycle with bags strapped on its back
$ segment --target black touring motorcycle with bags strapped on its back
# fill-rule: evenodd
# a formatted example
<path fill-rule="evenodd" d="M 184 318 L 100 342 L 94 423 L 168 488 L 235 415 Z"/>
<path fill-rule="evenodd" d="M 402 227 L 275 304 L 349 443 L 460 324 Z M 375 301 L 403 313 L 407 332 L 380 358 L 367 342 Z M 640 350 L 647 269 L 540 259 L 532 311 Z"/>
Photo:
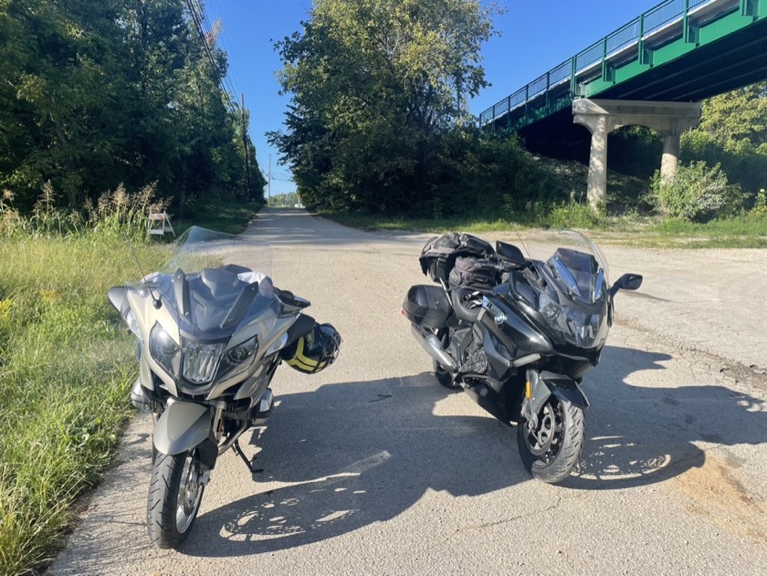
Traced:
<path fill-rule="evenodd" d="M 437 380 L 516 424 L 524 466 L 556 483 L 583 455 L 588 401 L 580 384 L 599 362 L 615 294 L 636 290 L 642 277 L 625 274 L 609 286 L 604 257 L 572 230 L 520 244 L 527 256 L 467 234 L 430 239 L 421 269 L 439 286 L 410 288 L 403 313 Z"/>

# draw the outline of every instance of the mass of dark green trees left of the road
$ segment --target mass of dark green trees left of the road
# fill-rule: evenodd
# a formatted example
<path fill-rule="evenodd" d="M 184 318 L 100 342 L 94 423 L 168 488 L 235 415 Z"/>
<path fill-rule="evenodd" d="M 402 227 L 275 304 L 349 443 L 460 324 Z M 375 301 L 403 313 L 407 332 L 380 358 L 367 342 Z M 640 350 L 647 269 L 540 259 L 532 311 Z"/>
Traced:
<path fill-rule="evenodd" d="M 220 87 L 226 54 L 201 39 L 200 6 L 0 0 L 0 189 L 22 208 L 48 181 L 73 207 L 120 183 L 244 194 L 243 110 Z"/>

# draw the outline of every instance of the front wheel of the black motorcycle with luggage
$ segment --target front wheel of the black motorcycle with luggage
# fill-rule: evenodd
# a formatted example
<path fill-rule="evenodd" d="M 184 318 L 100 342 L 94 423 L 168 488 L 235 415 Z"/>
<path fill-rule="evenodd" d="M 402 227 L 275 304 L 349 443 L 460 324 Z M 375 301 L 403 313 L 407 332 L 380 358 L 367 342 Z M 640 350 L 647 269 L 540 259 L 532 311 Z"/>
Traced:
<path fill-rule="evenodd" d="M 537 422 L 520 419 L 517 445 L 522 463 L 538 480 L 562 482 L 581 461 L 585 434 L 583 410 L 552 394 Z"/>

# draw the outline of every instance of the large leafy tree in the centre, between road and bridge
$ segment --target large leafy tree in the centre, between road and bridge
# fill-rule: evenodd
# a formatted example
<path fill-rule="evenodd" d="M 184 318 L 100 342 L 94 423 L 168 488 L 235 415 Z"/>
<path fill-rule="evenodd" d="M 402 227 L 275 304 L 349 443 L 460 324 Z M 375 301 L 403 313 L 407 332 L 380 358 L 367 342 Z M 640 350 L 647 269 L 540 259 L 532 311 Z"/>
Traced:
<path fill-rule="evenodd" d="M 429 157 L 486 86 L 478 0 L 316 0 L 278 42 L 291 95 L 271 141 L 309 205 L 394 211 L 433 194 Z"/>

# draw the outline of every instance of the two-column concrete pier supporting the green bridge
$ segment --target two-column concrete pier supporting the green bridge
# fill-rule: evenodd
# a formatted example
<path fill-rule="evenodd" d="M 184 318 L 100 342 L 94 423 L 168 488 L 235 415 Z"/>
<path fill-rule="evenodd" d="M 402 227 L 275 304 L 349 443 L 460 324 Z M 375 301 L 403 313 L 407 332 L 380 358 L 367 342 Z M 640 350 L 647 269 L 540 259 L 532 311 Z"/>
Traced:
<path fill-rule="evenodd" d="M 622 126 L 646 126 L 663 133 L 660 177 L 668 181 L 677 173 L 682 132 L 700 122 L 700 102 L 577 99 L 573 101 L 573 122 L 592 134 L 588 200 L 596 211 L 607 204 L 607 134 Z"/>

